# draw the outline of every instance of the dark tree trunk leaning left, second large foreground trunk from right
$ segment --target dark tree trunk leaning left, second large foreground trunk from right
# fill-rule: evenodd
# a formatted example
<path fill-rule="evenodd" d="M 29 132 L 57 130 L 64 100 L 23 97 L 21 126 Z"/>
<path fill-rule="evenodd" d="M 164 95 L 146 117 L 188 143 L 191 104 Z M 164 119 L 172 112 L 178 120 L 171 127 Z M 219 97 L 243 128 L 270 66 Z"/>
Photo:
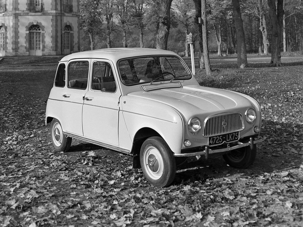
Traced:
<path fill-rule="evenodd" d="M 247 55 L 245 49 L 245 36 L 243 29 L 243 21 L 241 17 L 240 11 L 240 3 L 239 0 L 232 0 L 232 11 L 235 18 L 235 27 L 236 27 L 236 36 L 237 36 L 237 58 L 238 63 L 237 66 L 239 68 L 247 67 Z"/>

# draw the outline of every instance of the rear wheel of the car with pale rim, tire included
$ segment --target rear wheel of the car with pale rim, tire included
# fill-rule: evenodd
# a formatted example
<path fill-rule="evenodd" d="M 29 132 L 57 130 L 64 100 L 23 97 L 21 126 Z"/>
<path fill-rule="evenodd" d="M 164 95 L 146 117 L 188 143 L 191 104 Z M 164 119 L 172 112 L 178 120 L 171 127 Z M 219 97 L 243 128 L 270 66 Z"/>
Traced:
<path fill-rule="evenodd" d="M 51 140 L 55 150 L 59 152 L 68 151 L 72 143 L 72 137 L 65 137 L 60 122 L 55 118 L 51 123 Z"/>

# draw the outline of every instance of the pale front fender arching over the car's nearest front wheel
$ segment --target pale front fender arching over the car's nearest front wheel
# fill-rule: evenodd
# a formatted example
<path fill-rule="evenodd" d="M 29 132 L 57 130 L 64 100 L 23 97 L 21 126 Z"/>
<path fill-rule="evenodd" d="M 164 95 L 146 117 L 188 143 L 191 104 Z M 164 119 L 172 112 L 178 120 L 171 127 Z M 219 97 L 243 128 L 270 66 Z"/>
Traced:
<path fill-rule="evenodd" d="M 177 110 L 163 103 L 138 97 L 123 96 L 121 103 L 132 142 L 140 129 L 148 127 L 160 134 L 172 152 L 181 153 L 184 120 Z"/>

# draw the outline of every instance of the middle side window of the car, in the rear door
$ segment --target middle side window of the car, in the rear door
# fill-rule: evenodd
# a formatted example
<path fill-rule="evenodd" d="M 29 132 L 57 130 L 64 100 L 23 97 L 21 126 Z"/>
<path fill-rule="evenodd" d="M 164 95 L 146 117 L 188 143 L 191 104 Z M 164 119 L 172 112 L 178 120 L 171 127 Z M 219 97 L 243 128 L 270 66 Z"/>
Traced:
<path fill-rule="evenodd" d="M 88 61 L 73 61 L 68 65 L 68 85 L 69 88 L 85 90 L 88 81 Z"/>

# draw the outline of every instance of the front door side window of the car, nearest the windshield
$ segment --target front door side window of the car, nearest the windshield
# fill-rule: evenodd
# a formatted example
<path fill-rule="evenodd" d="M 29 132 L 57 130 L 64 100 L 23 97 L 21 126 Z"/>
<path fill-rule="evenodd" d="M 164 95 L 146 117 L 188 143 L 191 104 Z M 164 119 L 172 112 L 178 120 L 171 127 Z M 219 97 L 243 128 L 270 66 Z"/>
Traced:
<path fill-rule="evenodd" d="M 92 70 L 92 90 L 115 92 L 117 85 L 112 71 L 112 67 L 108 62 L 95 61 Z"/>

